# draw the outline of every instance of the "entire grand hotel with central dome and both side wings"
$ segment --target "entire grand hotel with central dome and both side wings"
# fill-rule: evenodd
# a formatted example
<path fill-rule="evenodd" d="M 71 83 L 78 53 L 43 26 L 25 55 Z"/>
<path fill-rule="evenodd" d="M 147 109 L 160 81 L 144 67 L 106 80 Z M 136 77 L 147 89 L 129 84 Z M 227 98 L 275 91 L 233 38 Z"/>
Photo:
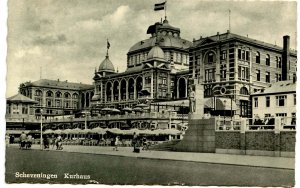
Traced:
<path fill-rule="evenodd" d="M 127 62 L 113 62 L 107 52 L 93 85 L 42 79 L 20 84 L 19 93 L 37 101 L 36 117 L 40 109 L 48 117 L 82 110 L 95 115 L 102 108 L 122 110 L 140 103 L 154 111 L 173 105 L 174 111 L 188 113 L 189 88 L 203 84 L 205 112 L 250 117 L 251 94 L 296 79 L 297 56 L 289 36 L 283 37 L 282 48 L 230 31 L 192 42 L 180 33 L 167 20 L 150 25 L 150 37 L 129 49 Z M 117 72 L 116 63 L 127 63 L 127 69 Z"/>

